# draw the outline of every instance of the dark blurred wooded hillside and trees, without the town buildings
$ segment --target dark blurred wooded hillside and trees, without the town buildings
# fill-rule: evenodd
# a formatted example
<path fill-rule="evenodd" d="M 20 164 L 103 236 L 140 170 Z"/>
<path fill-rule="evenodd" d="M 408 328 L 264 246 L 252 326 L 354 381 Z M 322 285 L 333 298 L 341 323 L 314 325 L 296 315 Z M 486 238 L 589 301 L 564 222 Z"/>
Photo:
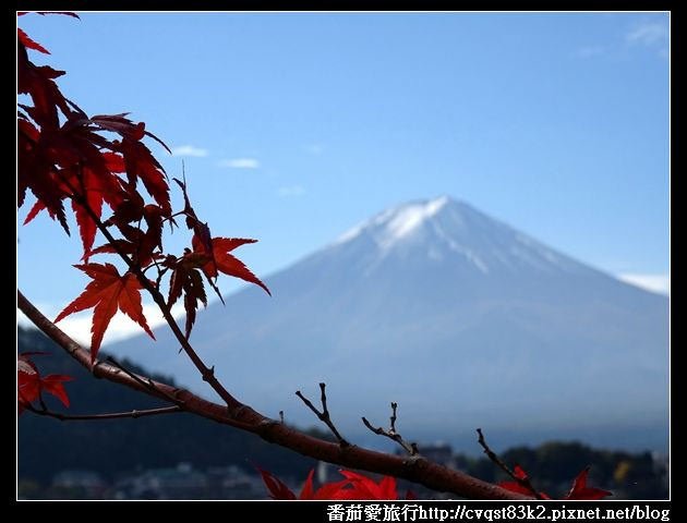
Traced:
<path fill-rule="evenodd" d="M 37 330 L 19 328 L 19 350 L 48 352 L 49 355 L 40 356 L 46 372 L 74 376 L 74 381 L 69 385 L 74 412 L 161 405 L 154 398 L 142 398 L 133 390 L 94 380 L 88 372 Z M 132 362 L 125 365 L 133 372 L 145 373 Z M 172 381 L 165 376 L 153 377 Z M 46 401 L 57 400 L 46 398 Z M 320 429 L 313 431 L 320 433 L 320 437 L 328 437 Z M 312 459 L 190 414 L 100 423 L 59 423 L 38 416 L 21 416 L 17 437 L 19 479 L 35 482 L 43 488 L 63 470 L 91 470 L 111 479 L 136 469 L 189 462 L 197 467 L 236 464 L 246 471 L 254 471 L 258 465 L 285 477 L 302 478 L 315 465 Z M 246 457 L 251 457 L 251 461 Z M 594 450 L 579 442 L 547 442 L 537 448 L 513 448 L 503 452 L 502 458 L 522 466 L 535 478 L 540 490 L 551 494 L 564 492 L 580 465 L 590 464 L 590 481 L 612 490 L 616 499 L 664 499 L 668 496 L 665 464 L 649 452 Z M 458 454 L 454 460 L 458 469 L 486 482 L 506 479 L 485 457 Z M 413 485 L 413 488 L 418 486 Z M 426 494 L 436 495 L 431 490 Z"/>

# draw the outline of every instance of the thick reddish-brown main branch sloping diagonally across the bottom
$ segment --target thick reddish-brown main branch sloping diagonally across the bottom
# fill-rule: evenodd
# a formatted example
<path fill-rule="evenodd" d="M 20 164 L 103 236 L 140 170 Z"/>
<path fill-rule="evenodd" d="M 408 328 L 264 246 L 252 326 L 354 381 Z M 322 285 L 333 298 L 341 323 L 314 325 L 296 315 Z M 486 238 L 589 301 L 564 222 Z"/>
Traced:
<path fill-rule="evenodd" d="M 433 490 L 453 492 L 462 498 L 531 499 L 531 497 L 506 490 L 420 455 L 401 458 L 354 446 L 342 447 L 339 443 L 315 438 L 287 424 L 269 419 L 248 405 L 242 405 L 236 415 L 231 415 L 227 411 L 227 405 L 213 403 L 188 390 L 156 381 L 146 376 L 136 375 L 137 379 L 134 379 L 114 365 L 98 360 L 92 363 L 89 351 L 72 340 L 44 316 L 21 291 L 17 291 L 16 304 L 36 327 L 94 376 L 162 400 L 169 396 L 174 397 L 184 412 L 255 434 L 265 441 L 279 445 L 315 460 L 408 479 Z"/>

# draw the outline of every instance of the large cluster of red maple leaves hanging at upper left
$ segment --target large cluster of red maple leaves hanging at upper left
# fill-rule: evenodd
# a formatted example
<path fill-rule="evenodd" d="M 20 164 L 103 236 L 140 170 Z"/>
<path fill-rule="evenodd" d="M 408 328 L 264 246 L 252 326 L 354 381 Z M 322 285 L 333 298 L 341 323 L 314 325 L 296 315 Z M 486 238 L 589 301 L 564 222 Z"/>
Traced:
<path fill-rule="evenodd" d="M 201 222 L 191 207 L 185 184 L 179 181 L 184 196 L 181 214 L 193 231 L 193 250 L 186 248 L 179 257 L 165 253 L 162 228 L 166 222 L 176 224 L 176 215 L 167 174 L 143 139 L 153 138 L 169 149 L 146 131 L 145 123 L 132 121 L 126 113 L 88 117 L 67 99 L 56 84 L 55 80 L 64 73 L 35 65 L 28 58 L 29 49 L 48 53 L 19 29 L 17 94 L 27 95 L 33 105 L 17 105 L 17 204 L 22 207 L 26 193 L 31 192 L 36 203 L 25 223 L 46 210 L 69 233 L 64 200 L 71 202 L 85 262 L 76 267 L 93 279 L 56 321 L 95 307 L 91 342 L 91 355 L 95 360 L 118 309 L 153 336 L 143 315 L 141 290 L 159 292 L 162 277 L 170 269 L 168 305 L 183 294 L 186 338 L 191 335 L 198 302 L 207 304 L 203 275 L 218 294 L 218 272 L 255 283 L 269 293 L 253 272 L 229 254 L 255 240 L 213 239 L 207 223 Z M 138 182 L 149 195 L 148 202 Z M 103 219 L 106 207 L 112 214 Z M 108 241 L 94 248 L 98 230 Z M 120 275 L 111 264 L 89 264 L 89 257 L 97 254 L 125 257 L 128 270 Z M 143 276 L 148 269 L 157 271 L 155 281 Z"/>

